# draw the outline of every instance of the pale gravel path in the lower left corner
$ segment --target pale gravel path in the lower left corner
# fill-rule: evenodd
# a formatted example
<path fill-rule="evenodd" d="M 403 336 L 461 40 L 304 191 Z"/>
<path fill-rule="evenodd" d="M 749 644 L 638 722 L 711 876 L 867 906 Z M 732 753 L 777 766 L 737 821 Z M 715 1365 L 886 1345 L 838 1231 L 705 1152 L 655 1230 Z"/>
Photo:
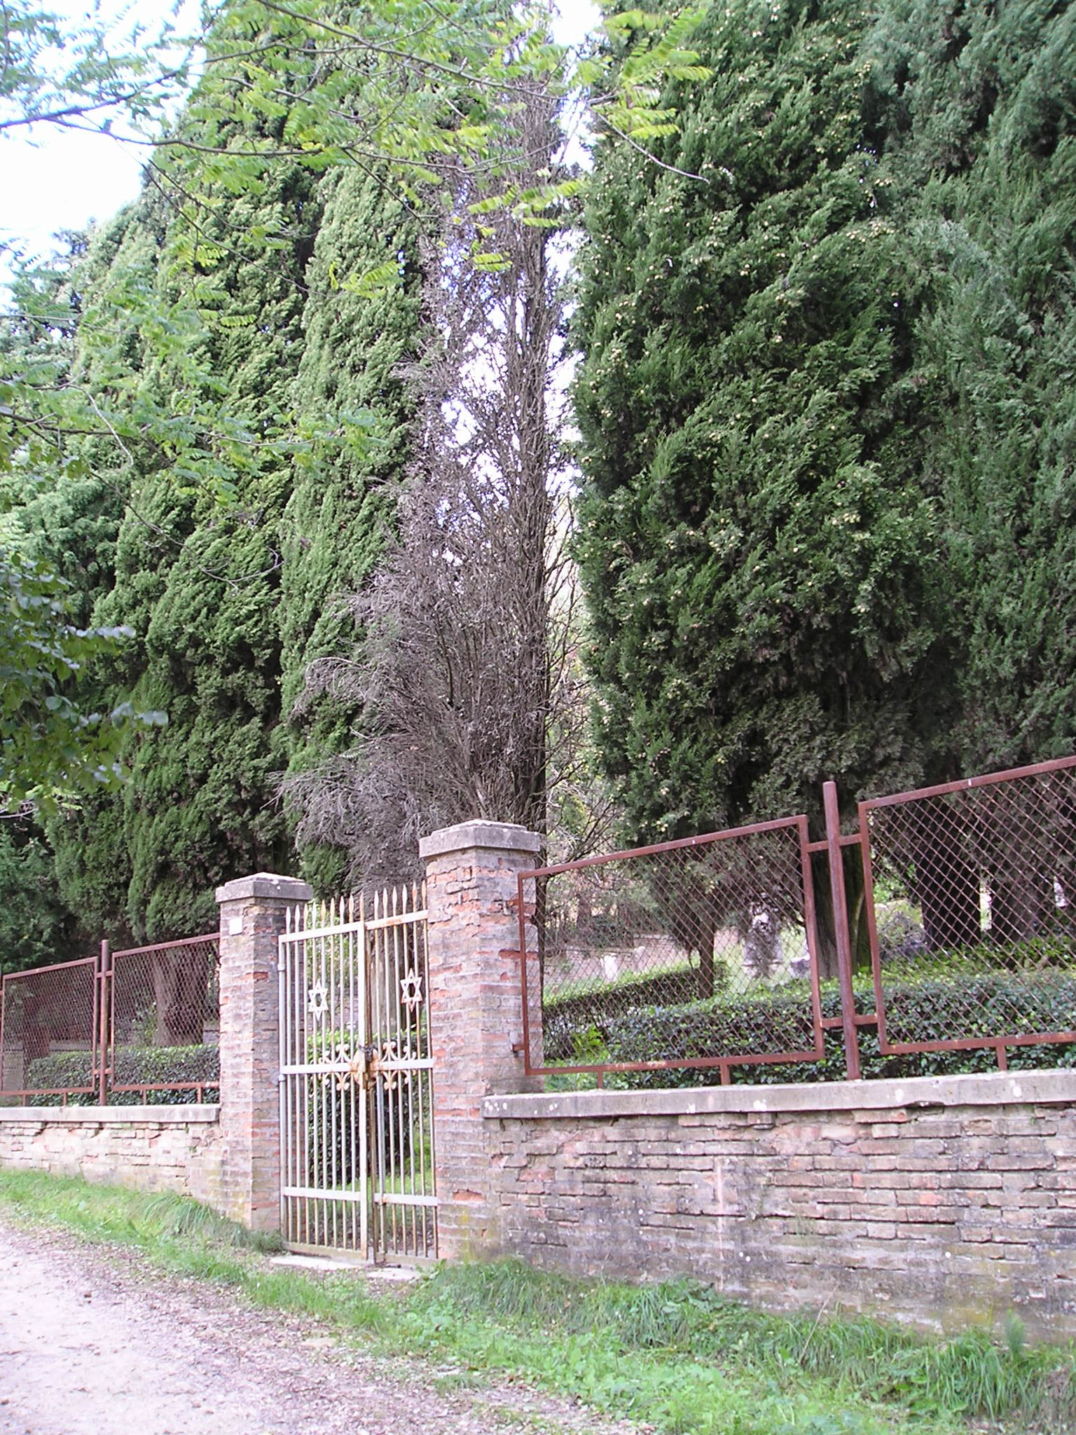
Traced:
<path fill-rule="evenodd" d="M 362 1277 L 356 1277 L 362 1279 Z M 461 1388 L 462 1386 L 462 1388 Z M 0 1435 L 633 1435 L 0 1215 Z"/>

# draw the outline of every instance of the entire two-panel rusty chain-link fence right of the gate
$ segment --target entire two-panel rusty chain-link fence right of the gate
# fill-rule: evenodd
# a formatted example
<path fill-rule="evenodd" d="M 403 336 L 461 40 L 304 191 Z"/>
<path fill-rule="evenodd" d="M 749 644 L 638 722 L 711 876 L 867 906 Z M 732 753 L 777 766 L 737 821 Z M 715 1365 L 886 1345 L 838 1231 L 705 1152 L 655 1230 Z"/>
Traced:
<path fill-rule="evenodd" d="M 1076 1060 L 1076 758 L 861 802 L 856 832 L 834 784 L 823 809 L 813 841 L 798 817 L 522 874 L 527 1069 Z"/>

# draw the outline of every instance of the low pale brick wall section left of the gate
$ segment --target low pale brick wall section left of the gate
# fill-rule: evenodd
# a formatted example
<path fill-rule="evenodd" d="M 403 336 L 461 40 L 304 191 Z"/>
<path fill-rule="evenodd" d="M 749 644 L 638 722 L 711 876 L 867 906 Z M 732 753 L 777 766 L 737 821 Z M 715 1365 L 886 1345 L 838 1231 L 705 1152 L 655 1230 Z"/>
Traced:
<path fill-rule="evenodd" d="M 0 1167 L 176 1191 L 221 1208 L 217 1106 L 3 1106 Z"/>

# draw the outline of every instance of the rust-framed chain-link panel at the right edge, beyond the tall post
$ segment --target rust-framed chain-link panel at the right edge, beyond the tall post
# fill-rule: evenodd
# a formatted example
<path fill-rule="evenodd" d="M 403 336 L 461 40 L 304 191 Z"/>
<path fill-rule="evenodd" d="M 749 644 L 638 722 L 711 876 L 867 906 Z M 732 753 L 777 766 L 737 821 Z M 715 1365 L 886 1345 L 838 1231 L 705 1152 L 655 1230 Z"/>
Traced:
<path fill-rule="evenodd" d="M 882 1052 L 1076 1042 L 1076 765 L 859 817 Z"/>

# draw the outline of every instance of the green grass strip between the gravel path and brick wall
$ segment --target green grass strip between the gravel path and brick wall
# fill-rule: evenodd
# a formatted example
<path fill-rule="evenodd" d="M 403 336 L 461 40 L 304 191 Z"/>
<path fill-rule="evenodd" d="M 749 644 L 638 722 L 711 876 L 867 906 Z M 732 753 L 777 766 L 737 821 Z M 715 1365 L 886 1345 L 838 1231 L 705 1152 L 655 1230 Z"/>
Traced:
<path fill-rule="evenodd" d="M 442 1383 L 511 1373 L 667 1435 L 1076 1429 L 1076 1353 L 1030 1347 L 1011 1319 L 1001 1343 L 978 1332 L 941 1342 L 868 1319 L 768 1316 L 692 1281 L 578 1281 L 521 1261 L 443 1266 L 373 1296 L 354 1273 L 271 1266 L 274 1241 L 174 1195 L 0 1171 L 0 1205 L 133 1246 L 374 1352 L 435 1358 Z"/>

